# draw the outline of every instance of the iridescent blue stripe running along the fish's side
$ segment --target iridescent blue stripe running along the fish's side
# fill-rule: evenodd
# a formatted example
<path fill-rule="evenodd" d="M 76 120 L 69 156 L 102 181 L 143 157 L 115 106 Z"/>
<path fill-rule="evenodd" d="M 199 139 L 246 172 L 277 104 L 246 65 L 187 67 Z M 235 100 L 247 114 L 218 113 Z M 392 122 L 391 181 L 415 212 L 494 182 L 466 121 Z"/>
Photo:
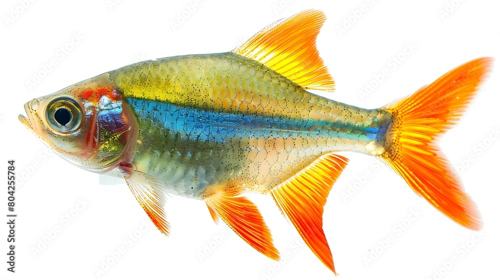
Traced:
<path fill-rule="evenodd" d="M 378 127 L 340 122 L 286 118 L 258 114 L 228 113 L 178 106 L 168 102 L 126 98 L 141 120 L 163 126 L 184 140 L 223 142 L 235 135 L 248 137 L 307 137 L 328 135 L 340 139 L 370 141 Z"/>

